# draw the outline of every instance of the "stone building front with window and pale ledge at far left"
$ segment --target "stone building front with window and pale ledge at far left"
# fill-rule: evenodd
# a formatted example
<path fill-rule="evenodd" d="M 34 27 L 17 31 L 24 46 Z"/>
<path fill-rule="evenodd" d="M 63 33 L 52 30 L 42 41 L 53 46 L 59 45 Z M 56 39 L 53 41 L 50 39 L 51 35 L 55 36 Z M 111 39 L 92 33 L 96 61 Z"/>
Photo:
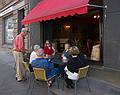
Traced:
<path fill-rule="evenodd" d="M 25 27 L 21 20 L 28 12 L 28 3 L 26 0 L 2 0 L 0 4 L 0 46 L 12 48 L 14 37 Z"/>

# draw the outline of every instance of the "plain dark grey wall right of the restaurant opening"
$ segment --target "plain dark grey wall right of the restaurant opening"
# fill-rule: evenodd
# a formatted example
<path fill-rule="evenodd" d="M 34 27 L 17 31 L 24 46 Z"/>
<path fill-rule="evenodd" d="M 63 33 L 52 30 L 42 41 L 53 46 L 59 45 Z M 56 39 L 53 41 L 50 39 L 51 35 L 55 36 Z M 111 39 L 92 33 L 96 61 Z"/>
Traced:
<path fill-rule="evenodd" d="M 105 67 L 120 70 L 120 0 L 105 0 L 103 32 L 103 63 Z"/>

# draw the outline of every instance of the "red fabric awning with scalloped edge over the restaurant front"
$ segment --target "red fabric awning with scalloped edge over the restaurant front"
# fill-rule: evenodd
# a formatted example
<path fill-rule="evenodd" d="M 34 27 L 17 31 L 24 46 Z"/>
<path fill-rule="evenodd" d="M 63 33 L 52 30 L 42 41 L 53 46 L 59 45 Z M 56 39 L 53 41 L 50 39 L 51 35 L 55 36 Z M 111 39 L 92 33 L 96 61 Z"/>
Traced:
<path fill-rule="evenodd" d="M 88 12 L 89 0 L 43 0 L 34 7 L 22 20 L 22 24 L 30 24 L 42 20 L 66 17 L 68 15 Z"/>

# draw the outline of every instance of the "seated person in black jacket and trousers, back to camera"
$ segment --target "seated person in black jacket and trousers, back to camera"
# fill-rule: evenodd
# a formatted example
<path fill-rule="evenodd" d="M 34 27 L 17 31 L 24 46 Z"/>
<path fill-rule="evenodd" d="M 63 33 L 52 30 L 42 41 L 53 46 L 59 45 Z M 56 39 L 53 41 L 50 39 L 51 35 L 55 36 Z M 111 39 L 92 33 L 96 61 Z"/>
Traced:
<path fill-rule="evenodd" d="M 76 46 L 70 48 L 69 53 L 72 55 L 65 67 L 64 77 L 67 84 L 67 88 L 74 88 L 74 84 L 71 79 L 68 78 L 69 74 L 66 72 L 66 68 L 71 73 L 78 73 L 79 68 L 87 65 L 85 56 L 83 53 L 80 53 L 79 49 Z"/>

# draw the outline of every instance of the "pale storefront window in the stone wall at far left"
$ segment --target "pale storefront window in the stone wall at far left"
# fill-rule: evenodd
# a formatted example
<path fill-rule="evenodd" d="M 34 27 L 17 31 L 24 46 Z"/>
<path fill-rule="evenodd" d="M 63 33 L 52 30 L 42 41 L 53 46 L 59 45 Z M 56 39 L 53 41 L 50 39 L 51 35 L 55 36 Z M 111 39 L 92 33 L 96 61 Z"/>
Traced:
<path fill-rule="evenodd" d="M 5 18 L 5 29 L 4 30 L 5 30 L 5 33 L 4 33 L 5 44 L 12 44 L 13 31 L 14 31 L 14 24 L 13 24 L 12 16 Z"/>

